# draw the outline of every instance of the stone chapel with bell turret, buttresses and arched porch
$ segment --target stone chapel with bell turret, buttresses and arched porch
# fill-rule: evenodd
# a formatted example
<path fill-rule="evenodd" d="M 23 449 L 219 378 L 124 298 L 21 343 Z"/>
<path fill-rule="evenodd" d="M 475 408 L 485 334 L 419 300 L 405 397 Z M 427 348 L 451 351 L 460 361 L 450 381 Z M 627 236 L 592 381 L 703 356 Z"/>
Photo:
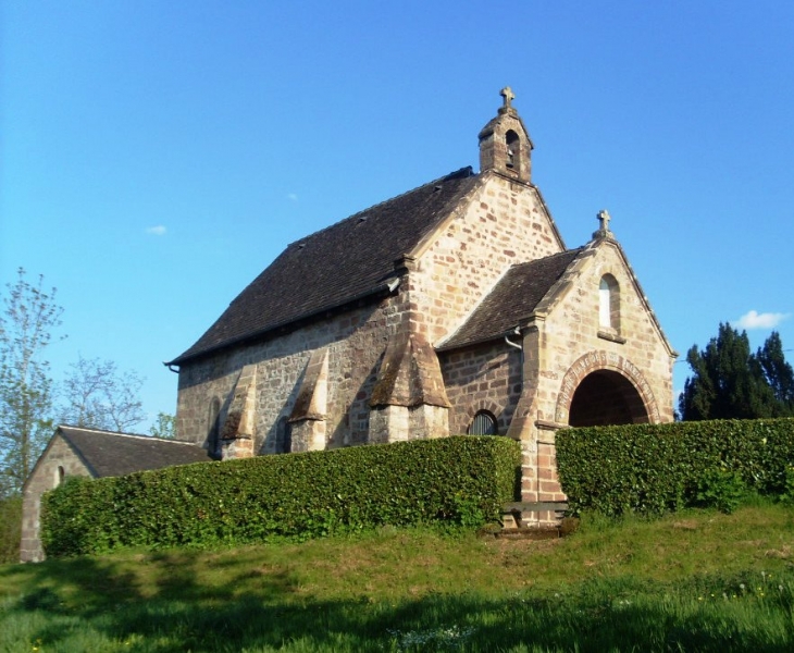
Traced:
<path fill-rule="evenodd" d="M 186 352 L 177 431 L 219 459 L 513 438 L 522 500 L 565 498 L 555 433 L 673 419 L 677 356 L 610 229 L 569 249 L 512 106 L 462 168 L 284 251 Z"/>

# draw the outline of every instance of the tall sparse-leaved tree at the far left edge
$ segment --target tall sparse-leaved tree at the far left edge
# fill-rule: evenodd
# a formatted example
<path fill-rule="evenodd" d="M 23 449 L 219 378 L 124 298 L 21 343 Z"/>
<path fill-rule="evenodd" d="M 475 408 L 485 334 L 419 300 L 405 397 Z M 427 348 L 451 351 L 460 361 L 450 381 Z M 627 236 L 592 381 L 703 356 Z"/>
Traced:
<path fill-rule="evenodd" d="M 20 268 L 0 313 L 0 496 L 17 494 L 52 433 L 52 379 L 45 359 L 63 309 L 44 276 Z"/>

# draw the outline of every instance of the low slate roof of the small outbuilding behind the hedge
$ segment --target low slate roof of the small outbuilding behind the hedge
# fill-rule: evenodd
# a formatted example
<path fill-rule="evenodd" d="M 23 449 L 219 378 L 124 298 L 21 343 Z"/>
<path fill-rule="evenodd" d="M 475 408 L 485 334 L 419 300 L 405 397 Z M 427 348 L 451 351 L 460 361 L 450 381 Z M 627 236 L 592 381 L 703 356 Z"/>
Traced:
<path fill-rule="evenodd" d="M 95 478 L 210 461 L 204 449 L 189 442 L 65 426 L 58 432 Z"/>

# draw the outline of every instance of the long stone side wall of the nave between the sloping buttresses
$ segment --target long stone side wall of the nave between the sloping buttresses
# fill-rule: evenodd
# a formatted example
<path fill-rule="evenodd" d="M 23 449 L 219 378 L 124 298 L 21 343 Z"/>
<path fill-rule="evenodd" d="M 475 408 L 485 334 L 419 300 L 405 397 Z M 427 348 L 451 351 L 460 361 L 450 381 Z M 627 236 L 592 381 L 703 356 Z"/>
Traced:
<path fill-rule="evenodd" d="M 240 370 L 256 365 L 253 453 L 274 453 L 276 424 L 293 410 L 312 352 L 327 347 L 326 447 L 365 443 L 369 399 L 380 359 L 406 318 L 404 297 L 393 296 L 262 343 L 186 364 L 179 373 L 179 438 L 207 446 L 212 398 L 221 399 L 223 420 Z"/>

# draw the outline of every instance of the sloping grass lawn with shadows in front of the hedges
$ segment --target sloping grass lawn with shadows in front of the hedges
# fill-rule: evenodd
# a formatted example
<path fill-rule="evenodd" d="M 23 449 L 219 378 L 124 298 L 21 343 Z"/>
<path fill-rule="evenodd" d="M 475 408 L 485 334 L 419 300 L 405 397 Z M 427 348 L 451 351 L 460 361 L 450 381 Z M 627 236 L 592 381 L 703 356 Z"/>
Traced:
<path fill-rule="evenodd" d="M 794 651 L 794 509 L 0 566 L 0 651 Z"/>

